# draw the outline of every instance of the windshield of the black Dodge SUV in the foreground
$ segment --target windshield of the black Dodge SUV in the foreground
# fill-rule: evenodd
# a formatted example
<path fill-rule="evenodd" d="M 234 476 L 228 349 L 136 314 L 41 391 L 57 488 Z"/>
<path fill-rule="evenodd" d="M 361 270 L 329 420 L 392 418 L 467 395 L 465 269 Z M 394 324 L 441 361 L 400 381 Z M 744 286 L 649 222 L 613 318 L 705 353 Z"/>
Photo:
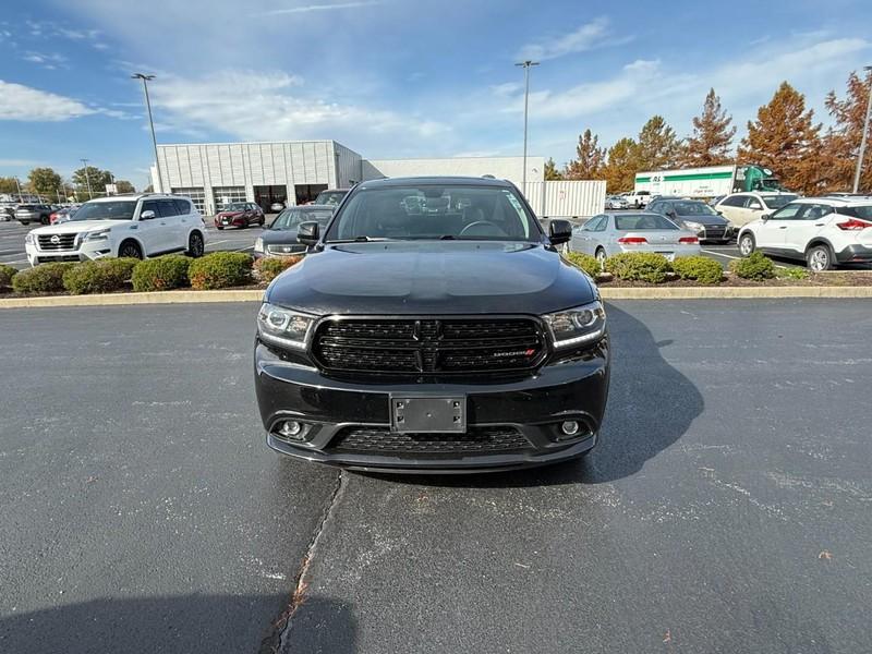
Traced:
<path fill-rule="evenodd" d="M 469 239 L 534 241 L 538 222 L 514 190 L 502 186 L 359 187 L 325 241 Z"/>

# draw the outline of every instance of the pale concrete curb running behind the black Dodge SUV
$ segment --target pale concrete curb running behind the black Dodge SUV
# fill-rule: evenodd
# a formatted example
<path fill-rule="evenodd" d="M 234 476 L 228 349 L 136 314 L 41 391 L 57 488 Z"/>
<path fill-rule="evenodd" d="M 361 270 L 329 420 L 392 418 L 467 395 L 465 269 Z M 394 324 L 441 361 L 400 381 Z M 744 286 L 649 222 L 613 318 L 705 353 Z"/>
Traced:
<path fill-rule="evenodd" d="M 600 289 L 603 300 L 743 300 L 784 298 L 870 298 L 872 287 L 683 287 Z M 261 289 L 225 291 L 157 291 L 147 293 L 111 293 L 108 295 L 51 295 L 46 298 L 0 299 L 3 308 L 41 308 L 62 306 L 131 306 L 136 304 L 199 304 L 223 302 L 261 302 Z"/>

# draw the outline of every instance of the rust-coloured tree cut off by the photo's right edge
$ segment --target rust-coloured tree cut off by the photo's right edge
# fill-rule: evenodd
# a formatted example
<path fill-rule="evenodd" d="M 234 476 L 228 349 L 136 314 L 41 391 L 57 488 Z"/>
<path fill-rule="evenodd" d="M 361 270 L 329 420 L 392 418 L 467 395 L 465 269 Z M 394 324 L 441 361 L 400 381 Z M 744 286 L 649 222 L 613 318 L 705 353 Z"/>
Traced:
<path fill-rule="evenodd" d="M 833 117 L 834 124 L 824 136 L 824 147 L 828 171 L 825 184 L 827 191 L 850 191 L 853 189 L 853 174 L 857 157 L 860 155 L 860 140 L 863 135 L 863 121 L 869 102 L 869 88 L 872 86 L 872 71 L 861 80 L 857 73 L 848 75 L 847 96 L 840 100 L 835 90 L 826 96 L 825 105 Z M 860 191 L 872 192 L 872 138 L 867 135 L 867 150 L 860 174 Z"/>

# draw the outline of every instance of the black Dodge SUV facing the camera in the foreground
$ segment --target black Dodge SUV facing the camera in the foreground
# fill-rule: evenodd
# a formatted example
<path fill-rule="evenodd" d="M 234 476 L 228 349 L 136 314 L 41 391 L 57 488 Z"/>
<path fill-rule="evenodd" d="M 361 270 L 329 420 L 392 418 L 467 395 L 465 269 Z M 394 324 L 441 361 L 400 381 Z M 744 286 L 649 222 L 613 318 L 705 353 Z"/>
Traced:
<path fill-rule="evenodd" d="M 267 443 L 363 470 L 472 472 L 580 457 L 609 378 L 606 315 L 509 182 L 355 186 L 257 316 Z"/>

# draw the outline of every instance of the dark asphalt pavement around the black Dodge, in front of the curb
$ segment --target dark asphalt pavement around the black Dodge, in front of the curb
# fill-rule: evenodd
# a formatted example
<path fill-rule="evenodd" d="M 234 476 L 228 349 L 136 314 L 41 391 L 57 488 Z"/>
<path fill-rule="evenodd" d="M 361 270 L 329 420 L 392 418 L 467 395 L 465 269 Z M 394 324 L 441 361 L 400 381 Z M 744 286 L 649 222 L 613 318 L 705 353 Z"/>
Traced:
<path fill-rule="evenodd" d="M 269 451 L 256 308 L 0 313 L 0 651 L 872 651 L 867 301 L 613 303 L 591 458 L 449 479 Z"/>

